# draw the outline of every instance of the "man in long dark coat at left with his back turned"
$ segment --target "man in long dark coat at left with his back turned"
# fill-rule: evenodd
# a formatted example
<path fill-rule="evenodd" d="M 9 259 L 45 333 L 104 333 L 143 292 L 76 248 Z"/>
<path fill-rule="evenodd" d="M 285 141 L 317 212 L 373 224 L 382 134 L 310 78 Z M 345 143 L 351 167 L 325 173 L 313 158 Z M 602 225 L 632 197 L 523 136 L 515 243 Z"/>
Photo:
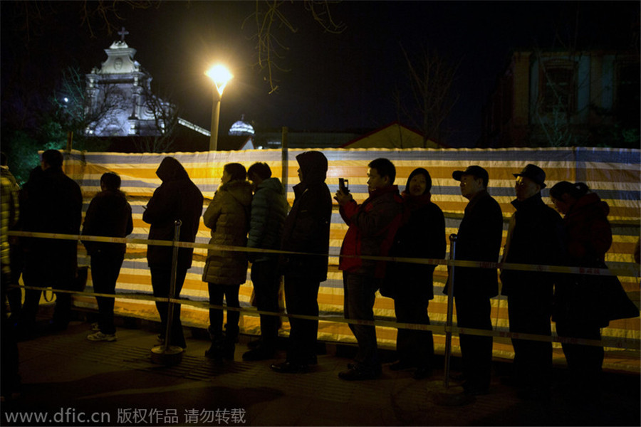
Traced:
<path fill-rule="evenodd" d="M 63 172 L 62 165 L 62 153 L 48 149 L 42 154 L 41 167 L 31 172 L 20 198 L 24 231 L 75 235 L 80 232 L 83 194 L 80 186 Z M 25 285 L 71 290 L 78 268 L 78 242 L 50 238 L 25 238 L 23 242 Z M 22 332 L 31 332 L 41 293 L 41 290 L 25 291 Z M 56 293 L 53 328 L 66 329 L 70 315 L 71 294 Z"/>

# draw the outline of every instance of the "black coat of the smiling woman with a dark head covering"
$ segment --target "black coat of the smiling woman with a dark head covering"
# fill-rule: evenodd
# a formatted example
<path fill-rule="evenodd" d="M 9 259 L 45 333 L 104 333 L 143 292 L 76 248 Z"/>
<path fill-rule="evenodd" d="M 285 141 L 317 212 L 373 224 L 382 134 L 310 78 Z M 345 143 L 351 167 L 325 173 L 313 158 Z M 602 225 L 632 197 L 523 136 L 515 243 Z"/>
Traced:
<path fill-rule="evenodd" d="M 445 256 L 445 217 L 431 194 L 411 196 L 402 193 L 403 225 L 396 232 L 390 256 L 443 259 Z M 388 263 L 381 294 L 393 298 L 434 299 L 434 268 L 431 264 Z"/>

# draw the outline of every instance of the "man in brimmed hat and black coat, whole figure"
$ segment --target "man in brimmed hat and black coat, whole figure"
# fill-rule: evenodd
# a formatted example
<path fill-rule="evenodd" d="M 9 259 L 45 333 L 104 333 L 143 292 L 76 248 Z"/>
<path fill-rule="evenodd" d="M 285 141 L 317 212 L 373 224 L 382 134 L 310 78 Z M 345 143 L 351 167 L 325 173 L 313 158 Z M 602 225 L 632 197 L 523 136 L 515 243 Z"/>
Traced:
<path fill-rule="evenodd" d="M 541 199 L 546 173 L 528 164 L 516 176 L 516 212 L 510 219 L 504 263 L 561 265 L 565 254 L 563 220 Z M 501 294 L 508 297 L 510 332 L 551 335 L 556 275 L 541 271 L 501 270 Z M 549 399 L 552 342 L 512 339 L 514 376 L 519 396 Z"/>

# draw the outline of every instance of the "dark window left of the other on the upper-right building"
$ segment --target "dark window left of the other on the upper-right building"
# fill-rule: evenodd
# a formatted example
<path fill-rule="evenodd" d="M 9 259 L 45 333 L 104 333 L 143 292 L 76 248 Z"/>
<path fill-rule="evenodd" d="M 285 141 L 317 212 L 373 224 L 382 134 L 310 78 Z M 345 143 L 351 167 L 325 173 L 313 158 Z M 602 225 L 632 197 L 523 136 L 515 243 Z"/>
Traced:
<path fill-rule="evenodd" d="M 541 70 L 541 107 L 543 112 L 576 111 L 576 64 L 552 60 Z"/>

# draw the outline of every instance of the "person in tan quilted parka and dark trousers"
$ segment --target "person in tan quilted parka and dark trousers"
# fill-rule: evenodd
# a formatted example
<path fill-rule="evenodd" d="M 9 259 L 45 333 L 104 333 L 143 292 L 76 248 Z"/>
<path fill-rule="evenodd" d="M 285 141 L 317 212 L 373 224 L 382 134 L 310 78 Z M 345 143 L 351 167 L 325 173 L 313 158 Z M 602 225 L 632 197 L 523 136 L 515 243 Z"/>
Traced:
<path fill-rule="evenodd" d="M 251 211 L 251 184 L 246 179 L 245 167 L 228 163 L 223 168 L 221 186 L 212 203 L 203 215 L 204 225 L 212 229 L 210 245 L 246 246 Z M 207 251 L 207 264 L 202 280 L 208 283 L 209 303 L 227 307 L 240 307 L 238 293 L 247 278 L 247 256 L 244 252 Z M 227 311 L 227 323 L 223 334 L 223 312 L 209 309 L 209 336 L 212 345 L 205 352 L 211 359 L 234 359 L 236 339 L 239 334 L 240 312 Z"/>

